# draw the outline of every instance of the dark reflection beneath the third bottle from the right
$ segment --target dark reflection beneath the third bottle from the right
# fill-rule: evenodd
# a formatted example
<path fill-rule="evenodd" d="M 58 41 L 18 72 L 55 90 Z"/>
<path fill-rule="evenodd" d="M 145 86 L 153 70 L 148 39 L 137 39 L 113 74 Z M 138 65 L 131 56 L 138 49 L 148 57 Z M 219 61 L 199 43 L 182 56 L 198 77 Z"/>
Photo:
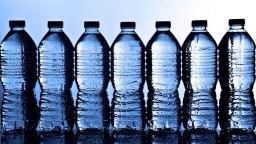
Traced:
<path fill-rule="evenodd" d="M 148 144 L 181 144 L 181 134 L 177 132 L 149 132 Z"/>

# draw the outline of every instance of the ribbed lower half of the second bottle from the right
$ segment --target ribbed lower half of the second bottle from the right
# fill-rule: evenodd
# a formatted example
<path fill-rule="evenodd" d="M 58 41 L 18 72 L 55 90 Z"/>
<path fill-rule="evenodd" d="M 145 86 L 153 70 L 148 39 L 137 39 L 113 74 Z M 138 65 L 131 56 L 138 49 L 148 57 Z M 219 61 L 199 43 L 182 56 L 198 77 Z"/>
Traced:
<path fill-rule="evenodd" d="M 215 91 L 185 91 L 183 100 L 183 126 L 189 131 L 215 131 L 218 125 Z"/>

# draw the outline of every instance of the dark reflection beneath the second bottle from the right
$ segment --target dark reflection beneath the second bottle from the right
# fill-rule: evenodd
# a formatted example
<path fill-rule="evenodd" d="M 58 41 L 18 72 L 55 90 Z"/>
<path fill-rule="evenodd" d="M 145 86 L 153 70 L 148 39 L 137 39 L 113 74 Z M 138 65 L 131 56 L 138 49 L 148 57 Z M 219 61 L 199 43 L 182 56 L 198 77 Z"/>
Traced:
<path fill-rule="evenodd" d="M 216 131 L 183 133 L 183 144 L 216 144 L 218 143 L 218 133 Z"/>

